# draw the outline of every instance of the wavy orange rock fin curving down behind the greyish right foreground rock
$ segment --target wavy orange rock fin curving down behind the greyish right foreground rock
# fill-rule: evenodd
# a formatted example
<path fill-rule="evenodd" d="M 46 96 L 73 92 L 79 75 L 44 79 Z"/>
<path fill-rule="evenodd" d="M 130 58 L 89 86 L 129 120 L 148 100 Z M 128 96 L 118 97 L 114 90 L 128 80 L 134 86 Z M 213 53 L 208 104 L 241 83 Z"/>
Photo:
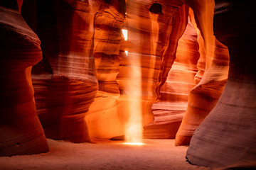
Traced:
<path fill-rule="evenodd" d="M 228 49 L 213 35 L 214 1 L 195 0 L 187 1 L 187 4 L 193 9 L 204 40 L 206 69 L 188 96 L 188 108 L 176 135 L 176 145 L 188 145 L 193 132 L 214 108 L 223 92 L 229 68 Z"/>

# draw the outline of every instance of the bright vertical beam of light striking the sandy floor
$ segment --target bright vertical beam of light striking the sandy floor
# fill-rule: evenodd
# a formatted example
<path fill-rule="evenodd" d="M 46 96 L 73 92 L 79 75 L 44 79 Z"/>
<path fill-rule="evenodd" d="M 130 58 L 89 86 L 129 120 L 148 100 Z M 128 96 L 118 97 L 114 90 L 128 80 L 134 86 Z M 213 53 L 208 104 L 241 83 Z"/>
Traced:
<path fill-rule="evenodd" d="M 122 29 L 124 40 L 127 40 L 128 31 Z M 124 94 L 127 96 L 129 105 L 129 120 L 125 125 L 125 144 L 143 145 L 142 143 L 142 70 L 139 58 L 128 51 L 125 51 L 129 68 L 129 80 L 124 87 Z"/>

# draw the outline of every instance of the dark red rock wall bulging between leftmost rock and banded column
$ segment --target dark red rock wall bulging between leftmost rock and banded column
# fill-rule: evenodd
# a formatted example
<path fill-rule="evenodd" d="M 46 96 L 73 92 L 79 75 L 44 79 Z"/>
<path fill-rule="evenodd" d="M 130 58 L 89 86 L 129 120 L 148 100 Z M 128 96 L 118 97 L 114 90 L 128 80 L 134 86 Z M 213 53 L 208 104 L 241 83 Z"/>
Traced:
<path fill-rule="evenodd" d="M 97 92 L 89 1 L 23 3 L 22 14 L 42 42 L 43 60 L 33 67 L 32 81 L 46 137 L 88 142 L 85 114 Z"/>

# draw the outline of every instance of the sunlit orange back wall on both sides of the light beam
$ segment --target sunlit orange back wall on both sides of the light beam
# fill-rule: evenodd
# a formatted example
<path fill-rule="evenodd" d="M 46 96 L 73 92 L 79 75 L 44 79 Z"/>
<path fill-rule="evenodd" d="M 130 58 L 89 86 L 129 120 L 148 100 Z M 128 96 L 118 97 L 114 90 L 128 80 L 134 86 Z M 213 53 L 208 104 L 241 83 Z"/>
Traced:
<path fill-rule="evenodd" d="M 119 6 L 122 3 L 119 1 Z M 99 34 L 95 34 L 95 64 L 100 91 L 86 117 L 92 137 L 122 136 L 129 129 L 129 120 L 142 125 L 153 121 L 151 106 L 157 98 L 159 70 L 164 65 L 161 60 L 177 11 L 171 5 L 182 4 L 157 1 L 158 5 L 151 8 L 152 4 L 153 1 L 127 1 L 125 11 L 110 3 L 95 15 L 95 33 Z M 142 127 L 134 128 L 137 130 L 142 131 Z"/>

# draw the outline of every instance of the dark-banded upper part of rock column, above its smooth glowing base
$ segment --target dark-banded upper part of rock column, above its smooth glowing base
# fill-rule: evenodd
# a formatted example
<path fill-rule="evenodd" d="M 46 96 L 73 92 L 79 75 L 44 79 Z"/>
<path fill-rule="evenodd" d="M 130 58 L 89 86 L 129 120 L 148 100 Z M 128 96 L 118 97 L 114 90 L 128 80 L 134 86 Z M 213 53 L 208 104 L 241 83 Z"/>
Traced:
<path fill-rule="evenodd" d="M 120 2 L 120 4 L 123 4 Z M 124 16 L 114 6 L 104 6 L 95 14 L 95 67 L 99 91 L 119 94 L 119 50 Z"/>

